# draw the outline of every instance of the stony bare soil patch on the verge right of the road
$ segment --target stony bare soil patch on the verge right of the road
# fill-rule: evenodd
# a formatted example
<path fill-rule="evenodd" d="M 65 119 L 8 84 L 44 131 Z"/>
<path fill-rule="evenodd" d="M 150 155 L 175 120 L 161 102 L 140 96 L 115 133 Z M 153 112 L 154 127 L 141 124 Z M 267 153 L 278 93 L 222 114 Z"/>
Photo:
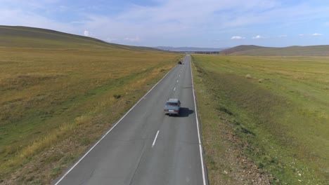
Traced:
<path fill-rule="evenodd" d="M 273 176 L 259 169 L 250 158 L 244 155 L 243 151 L 249 147 L 247 142 L 234 134 L 231 123 L 222 121 L 227 124 L 219 123 L 218 134 L 221 137 L 223 151 L 219 154 L 218 151 L 217 153 L 212 151 L 215 149 L 205 149 L 206 156 L 212 156 L 212 160 L 210 162 L 208 160 L 207 163 L 209 184 L 271 184 Z"/>

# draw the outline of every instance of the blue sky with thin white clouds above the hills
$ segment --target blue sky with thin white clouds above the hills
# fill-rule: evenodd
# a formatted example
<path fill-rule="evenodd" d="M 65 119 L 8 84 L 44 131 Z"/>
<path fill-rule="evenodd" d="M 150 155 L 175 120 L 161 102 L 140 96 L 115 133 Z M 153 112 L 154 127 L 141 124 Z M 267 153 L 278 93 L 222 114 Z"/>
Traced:
<path fill-rule="evenodd" d="M 0 25 L 133 46 L 329 44 L 329 1 L 323 0 L 0 0 L 0 5 Z"/>

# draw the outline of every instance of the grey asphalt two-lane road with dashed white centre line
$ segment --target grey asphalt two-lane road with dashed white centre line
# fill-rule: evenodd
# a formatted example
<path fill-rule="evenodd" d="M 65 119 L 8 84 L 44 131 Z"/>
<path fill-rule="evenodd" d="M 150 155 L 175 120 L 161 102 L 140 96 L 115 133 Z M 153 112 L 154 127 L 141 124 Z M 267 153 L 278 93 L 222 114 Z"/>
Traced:
<path fill-rule="evenodd" d="M 181 101 L 179 117 L 163 114 L 172 97 Z M 196 114 L 186 55 L 52 184 L 208 184 Z"/>

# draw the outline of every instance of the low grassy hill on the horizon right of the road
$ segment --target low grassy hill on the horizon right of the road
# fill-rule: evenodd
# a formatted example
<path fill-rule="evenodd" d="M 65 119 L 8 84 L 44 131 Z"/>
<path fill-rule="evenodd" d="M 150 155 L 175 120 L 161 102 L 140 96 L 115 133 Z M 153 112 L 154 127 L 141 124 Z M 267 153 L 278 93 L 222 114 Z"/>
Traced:
<path fill-rule="evenodd" d="M 290 46 L 285 48 L 271 48 L 262 46 L 236 46 L 222 50 L 224 55 L 251 56 L 328 56 L 329 45 L 323 46 Z"/>

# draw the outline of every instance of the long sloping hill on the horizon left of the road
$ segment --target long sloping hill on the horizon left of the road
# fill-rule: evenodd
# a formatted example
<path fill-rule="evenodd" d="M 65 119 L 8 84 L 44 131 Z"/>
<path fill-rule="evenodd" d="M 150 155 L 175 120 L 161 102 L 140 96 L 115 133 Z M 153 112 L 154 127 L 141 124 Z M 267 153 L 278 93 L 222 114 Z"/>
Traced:
<path fill-rule="evenodd" d="M 115 48 L 123 50 L 157 51 L 155 48 L 124 46 L 99 39 L 34 27 L 0 25 L 0 46 L 28 48 Z"/>

